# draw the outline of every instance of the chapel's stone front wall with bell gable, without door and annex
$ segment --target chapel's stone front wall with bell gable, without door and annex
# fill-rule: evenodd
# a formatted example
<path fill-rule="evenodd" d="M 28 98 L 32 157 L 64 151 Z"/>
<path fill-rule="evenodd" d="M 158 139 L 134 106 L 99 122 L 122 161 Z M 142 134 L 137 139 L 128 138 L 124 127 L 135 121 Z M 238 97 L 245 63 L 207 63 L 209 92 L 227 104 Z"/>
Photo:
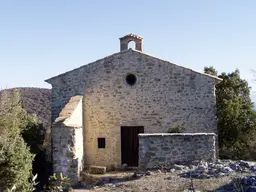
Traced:
<path fill-rule="evenodd" d="M 170 127 L 182 125 L 189 133 L 217 133 L 215 84 L 221 79 L 139 48 L 127 50 L 131 40 L 137 48 L 142 46 L 142 38 L 125 36 L 120 38 L 120 52 L 46 80 L 52 85 L 52 121 L 70 98 L 83 96 L 85 167 L 121 166 L 121 126 L 166 133 Z M 132 86 L 126 82 L 128 74 L 136 76 Z M 106 139 L 104 149 L 98 148 L 98 138 Z"/>

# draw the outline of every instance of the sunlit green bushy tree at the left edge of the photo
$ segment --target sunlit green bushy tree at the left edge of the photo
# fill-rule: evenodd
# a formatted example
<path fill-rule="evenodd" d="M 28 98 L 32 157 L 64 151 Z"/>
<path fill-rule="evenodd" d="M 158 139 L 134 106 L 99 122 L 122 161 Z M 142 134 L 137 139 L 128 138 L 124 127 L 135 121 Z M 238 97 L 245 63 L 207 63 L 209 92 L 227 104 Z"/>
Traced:
<path fill-rule="evenodd" d="M 22 138 L 28 115 L 22 109 L 19 93 L 3 93 L 0 98 L 0 191 L 33 191 L 34 155 Z"/>

